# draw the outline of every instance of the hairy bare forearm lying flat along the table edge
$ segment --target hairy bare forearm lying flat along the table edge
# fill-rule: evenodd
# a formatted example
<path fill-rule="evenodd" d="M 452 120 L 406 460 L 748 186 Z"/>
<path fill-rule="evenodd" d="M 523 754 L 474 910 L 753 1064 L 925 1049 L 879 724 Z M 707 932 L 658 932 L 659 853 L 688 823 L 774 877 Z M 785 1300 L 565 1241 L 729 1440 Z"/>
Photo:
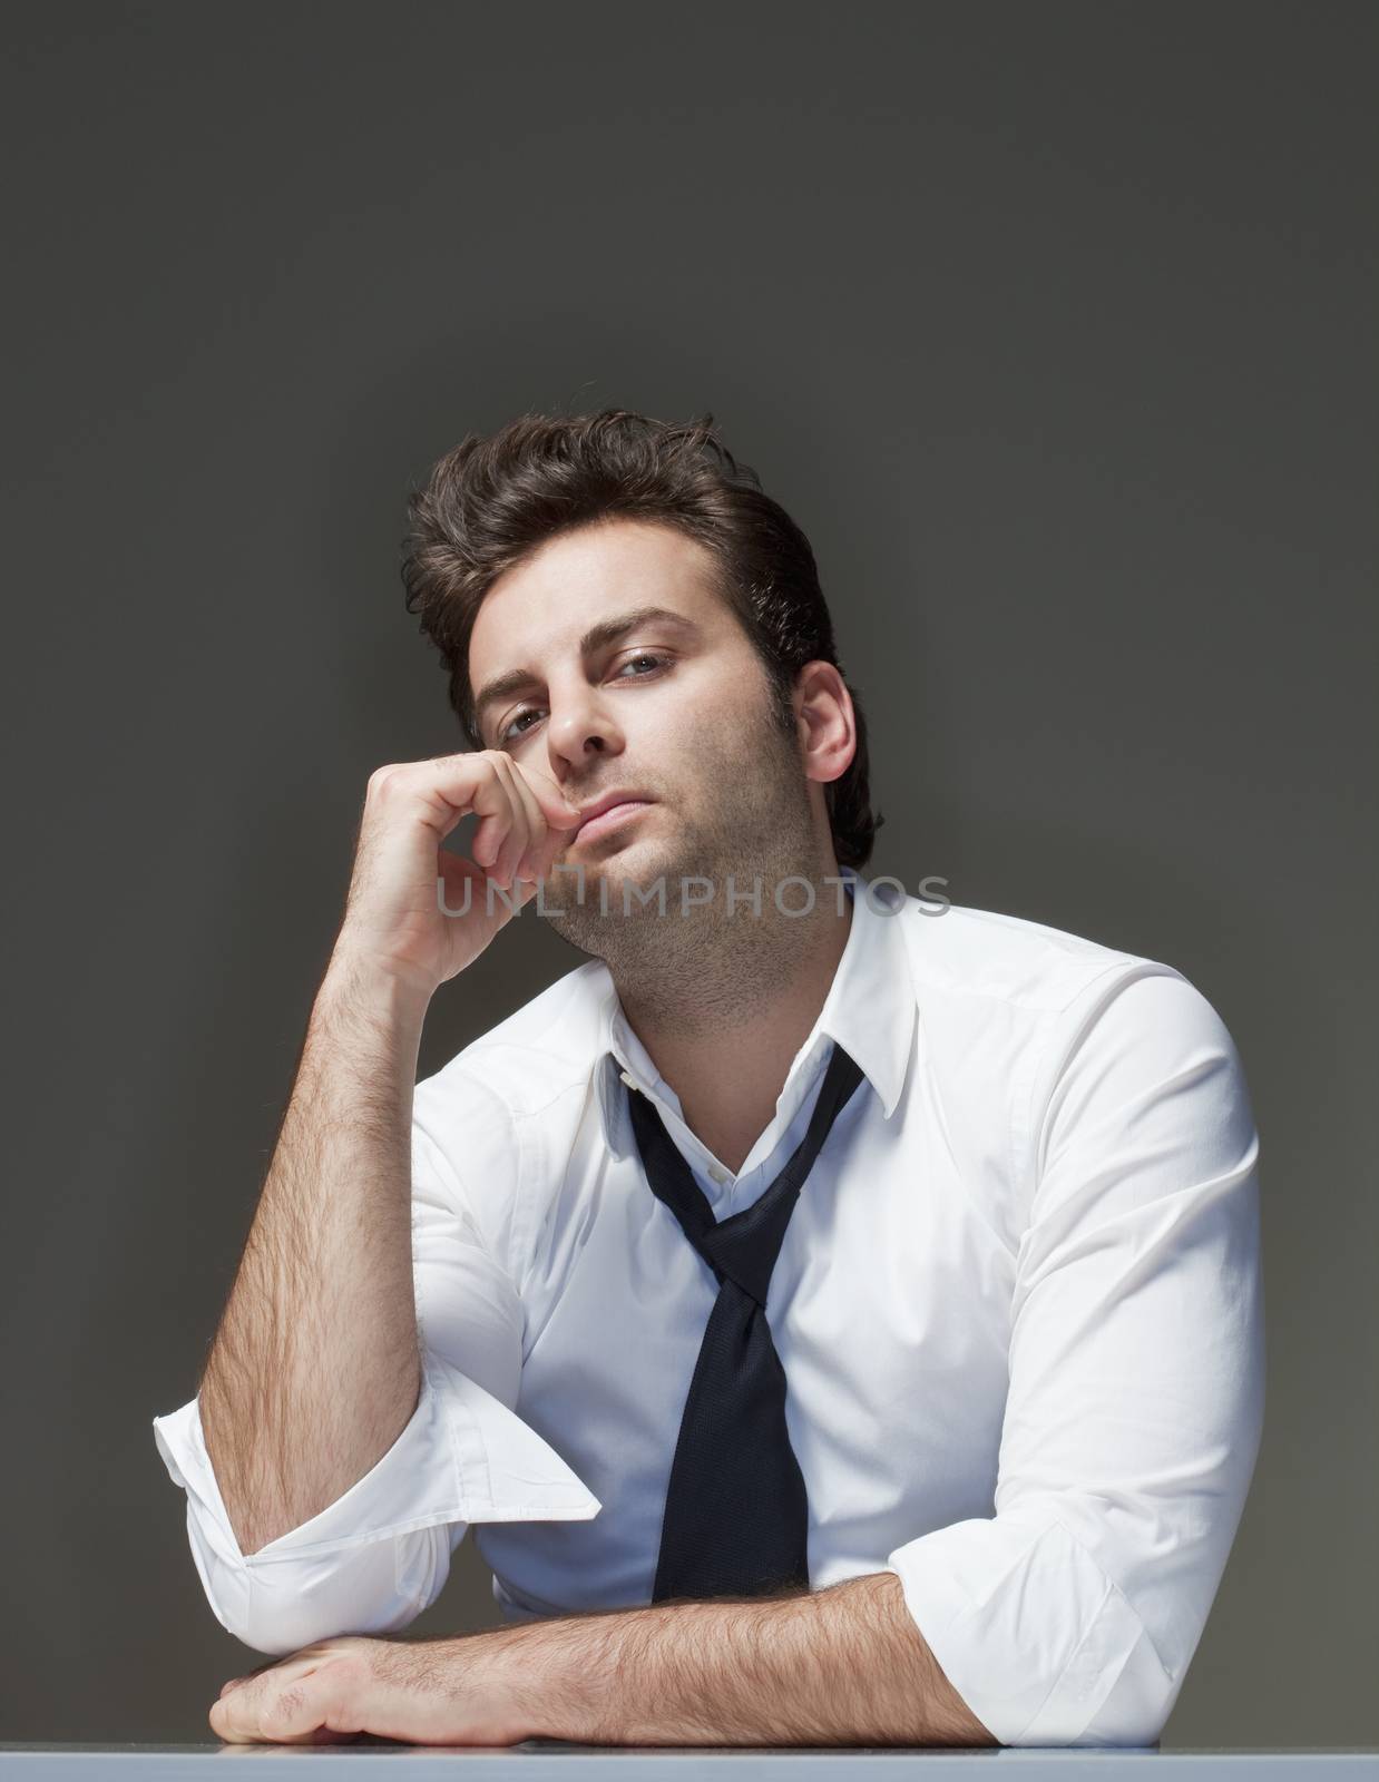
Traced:
<path fill-rule="evenodd" d="M 830 1590 L 561 1616 L 495 1639 L 524 1737 L 588 1745 L 996 1745 L 873 1572 Z"/>

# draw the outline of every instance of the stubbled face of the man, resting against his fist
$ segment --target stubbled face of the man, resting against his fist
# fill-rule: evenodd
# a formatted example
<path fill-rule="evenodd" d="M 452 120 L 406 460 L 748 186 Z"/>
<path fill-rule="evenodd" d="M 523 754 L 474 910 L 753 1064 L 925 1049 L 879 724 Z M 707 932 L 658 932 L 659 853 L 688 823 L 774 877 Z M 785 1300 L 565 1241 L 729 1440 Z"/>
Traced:
<path fill-rule="evenodd" d="M 645 887 L 661 875 L 673 909 L 682 877 L 732 873 L 750 891 L 761 875 L 770 898 L 770 873 L 814 868 L 821 797 L 816 807 L 800 743 L 777 725 L 766 670 L 713 572 L 707 549 L 673 527 L 611 520 L 549 540 L 479 608 L 469 672 L 485 748 L 545 773 L 577 805 L 613 791 L 650 800 L 575 834 L 559 855 L 567 870 L 547 879 L 545 912 L 567 916 L 575 944 L 593 932 L 600 879 L 616 920 L 624 879 Z M 638 608 L 665 613 L 622 629 Z M 616 634 L 586 640 L 613 624 Z M 520 684 L 485 699 L 515 670 Z M 718 882 L 720 911 L 723 896 Z M 581 898 L 588 909 L 575 912 Z"/>

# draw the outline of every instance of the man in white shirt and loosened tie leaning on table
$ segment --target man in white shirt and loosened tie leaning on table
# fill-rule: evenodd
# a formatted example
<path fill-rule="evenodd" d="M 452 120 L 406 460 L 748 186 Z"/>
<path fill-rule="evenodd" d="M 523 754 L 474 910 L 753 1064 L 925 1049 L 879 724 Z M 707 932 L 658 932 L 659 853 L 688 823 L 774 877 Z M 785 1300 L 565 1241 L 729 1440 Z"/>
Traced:
<path fill-rule="evenodd" d="M 812 554 L 711 417 L 522 417 L 412 519 L 470 748 L 369 782 L 155 1418 L 216 1614 L 282 1657 L 212 1729 L 1153 1745 L 1263 1418 L 1224 1025 L 1171 966 L 861 879 Z M 590 957 L 415 1083 L 533 898 Z M 513 1625 L 379 1638 L 470 1524 Z"/>

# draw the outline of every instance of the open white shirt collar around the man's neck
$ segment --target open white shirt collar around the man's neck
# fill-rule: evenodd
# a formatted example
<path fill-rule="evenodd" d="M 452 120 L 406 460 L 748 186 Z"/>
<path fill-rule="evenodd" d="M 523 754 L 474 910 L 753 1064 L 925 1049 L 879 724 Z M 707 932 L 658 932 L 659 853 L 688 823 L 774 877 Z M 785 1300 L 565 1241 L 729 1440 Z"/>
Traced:
<path fill-rule="evenodd" d="M 786 1085 L 802 1069 L 809 1069 L 827 1042 L 834 1041 L 857 1062 L 877 1091 L 889 1119 L 905 1087 L 905 1071 L 919 1018 L 905 936 L 900 932 L 909 911 L 903 903 L 896 907 L 894 893 L 884 898 L 877 891 L 877 905 L 873 905 L 873 893 L 852 866 L 841 866 L 839 877 L 852 898 L 848 941 L 823 1009 L 809 1039 L 795 1055 Z M 857 896 L 857 886 L 862 886 L 861 896 Z M 595 982 L 600 1001 L 593 1078 L 604 1139 L 616 1157 L 625 1157 L 634 1149 L 636 1140 L 622 1073 L 627 1071 L 640 1089 L 647 1094 L 659 1094 L 661 1099 L 672 1098 L 672 1091 L 627 1025 L 613 975 L 602 962 L 599 962 Z"/>

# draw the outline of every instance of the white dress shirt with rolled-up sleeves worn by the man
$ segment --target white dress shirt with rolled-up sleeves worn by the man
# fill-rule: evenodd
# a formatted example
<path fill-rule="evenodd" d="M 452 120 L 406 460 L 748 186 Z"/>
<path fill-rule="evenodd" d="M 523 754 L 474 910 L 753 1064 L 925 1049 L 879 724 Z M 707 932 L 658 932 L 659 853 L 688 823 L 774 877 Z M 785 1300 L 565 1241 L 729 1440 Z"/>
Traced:
<path fill-rule="evenodd" d="M 198 1401 L 153 1420 L 230 1632 L 278 1655 L 399 1631 L 470 1524 L 508 1620 L 650 1602 L 718 1283 L 647 1183 L 624 1080 L 722 1219 L 804 1139 L 837 1042 L 864 1080 L 766 1304 L 811 1588 L 894 1572 L 1003 1745 L 1158 1739 L 1263 1427 L 1235 1044 L 1171 966 L 843 877 L 834 982 L 736 1176 L 597 959 L 417 1083 L 422 1390 L 388 1452 L 246 1557 Z"/>

